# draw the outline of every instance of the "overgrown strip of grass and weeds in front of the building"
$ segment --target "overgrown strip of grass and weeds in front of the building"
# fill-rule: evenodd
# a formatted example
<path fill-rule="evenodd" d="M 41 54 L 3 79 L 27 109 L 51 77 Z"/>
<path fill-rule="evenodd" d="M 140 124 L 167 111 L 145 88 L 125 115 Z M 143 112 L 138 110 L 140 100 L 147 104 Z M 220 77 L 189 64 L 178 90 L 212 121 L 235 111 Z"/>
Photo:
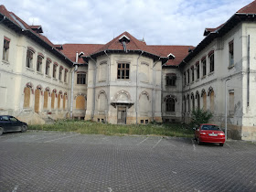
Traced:
<path fill-rule="evenodd" d="M 84 121 L 61 120 L 53 124 L 29 125 L 29 130 L 76 132 L 106 135 L 162 135 L 176 137 L 193 137 L 194 132 L 184 124 L 149 123 L 147 125 L 120 125 L 108 123 L 92 123 Z"/>

